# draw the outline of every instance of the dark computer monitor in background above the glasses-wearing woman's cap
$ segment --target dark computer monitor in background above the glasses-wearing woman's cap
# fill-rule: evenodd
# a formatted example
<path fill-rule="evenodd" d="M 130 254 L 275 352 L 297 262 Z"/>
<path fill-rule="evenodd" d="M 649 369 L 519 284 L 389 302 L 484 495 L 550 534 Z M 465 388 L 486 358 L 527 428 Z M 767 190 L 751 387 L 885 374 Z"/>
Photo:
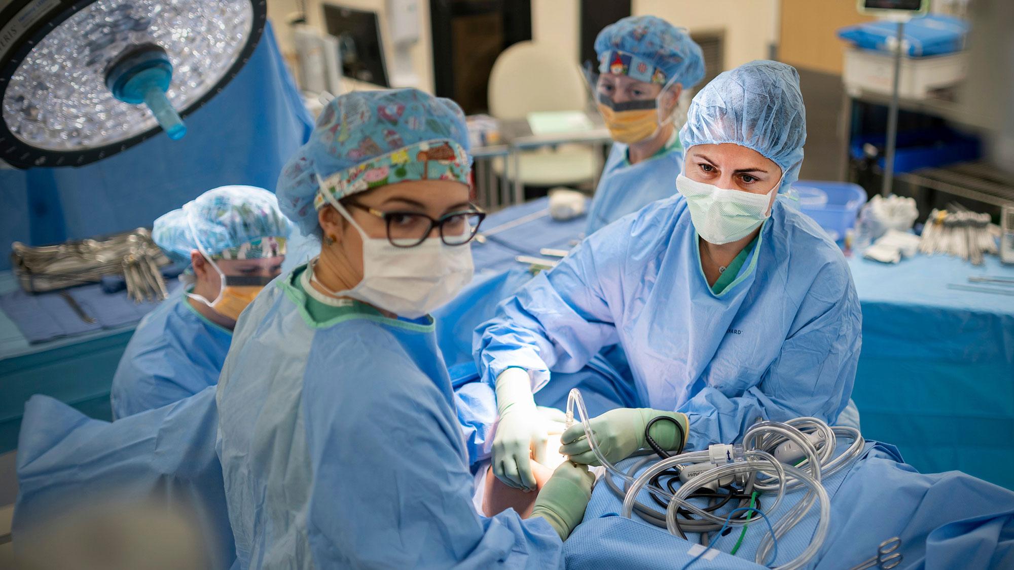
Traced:
<path fill-rule="evenodd" d="M 376 12 L 324 4 L 323 20 L 328 33 L 338 38 L 342 74 L 389 87 Z"/>

